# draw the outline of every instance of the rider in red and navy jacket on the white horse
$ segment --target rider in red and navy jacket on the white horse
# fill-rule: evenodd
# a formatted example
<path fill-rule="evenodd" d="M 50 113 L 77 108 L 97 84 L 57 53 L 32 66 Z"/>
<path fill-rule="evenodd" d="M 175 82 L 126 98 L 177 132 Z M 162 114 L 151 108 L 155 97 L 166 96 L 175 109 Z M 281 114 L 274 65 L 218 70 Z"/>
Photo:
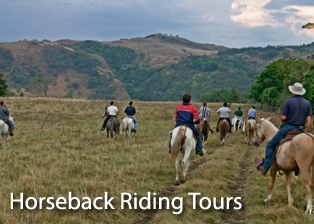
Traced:
<path fill-rule="evenodd" d="M 185 93 L 182 96 L 182 100 L 183 100 L 183 103 L 179 104 L 176 108 L 176 112 L 175 112 L 176 124 L 174 128 L 180 125 L 188 126 L 193 131 L 193 134 L 196 137 L 196 148 L 195 148 L 196 155 L 203 156 L 204 153 L 202 149 L 202 136 L 201 136 L 201 133 L 196 129 L 194 125 L 200 122 L 198 111 L 196 107 L 190 103 L 191 101 L 190 94 Z M 171 141 L 171 136 L 172 135 L 170 134 L 170 141 Z M 171 148 L 170 142 L 169 142 L 169 148 Z"/>

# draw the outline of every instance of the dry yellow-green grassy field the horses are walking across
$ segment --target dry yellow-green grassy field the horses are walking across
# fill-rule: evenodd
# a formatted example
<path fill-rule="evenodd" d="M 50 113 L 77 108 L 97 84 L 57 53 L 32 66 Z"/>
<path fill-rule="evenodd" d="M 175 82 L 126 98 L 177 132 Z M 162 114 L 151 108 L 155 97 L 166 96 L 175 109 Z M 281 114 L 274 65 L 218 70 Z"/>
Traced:
<path fill-rule="evenodd" d="M 8 98 L 6 104 L 15 120 L 15 136 L 0 149 L 0 223 L 314 223 L 304 215 L 305 189 L 301 177 L 293 177 L 294 206 L 288 207 L 285 178 L 278 175 L 273 199 L 264 204 L 269 176 L 254 169 L 254 158 L 264 156 L 265 143 L 248 147 L 241 133 L 232 134 L 219 147 L 219 135 L 209 135 L 203 157 L 191 156 L 186 183 L 174 186 L 175 168 L 168 153 L 169 131 L 174 125 L 174 109 L 179 102 L 134 102 L 139 128 L 133 139 L 120 135 L 115 141 L 99 132 L 107 101 L 55 98 Z M 117 101 L 119 118 L 128 102 Z M 201 103 L 195 103 L 197 107 Z M 221 106 L 209 104 L 212 125 Z M 232 105 L 232 111 L 239 105 Z M 250 105 L 241 105 L 247 111 Z M 278 114 L 258 110 L 278 126 Z M 246 118 L 246 116 L 245 116 Z M 69 192 L 82 202 L 78 209 L 68 204 L 56 207 L 56 199 L 68 199 Z M 102 200 L 113 197 L 111 208 Z M 12 203 L 23 193 L 21 203 Z M 199 193 L 195 198 L 192 193 Z M 157 209 L 147 209 L 145 197 L 163 197 Z M 43 208 L 34 199 L 43 199 Z M 47 202 L 54 197 L 55 206 Z M 240 197 L 241 209 L 227 208 L 226 200 Z M 132 198 L 121 208 L 121 201 Z M 214 203 L 214 198 L 218 201 Z M 180 201 L 181 199 L 181 201 Z M 136 202 L 137 200 L 137 202 Z M 211 206 L 209 207 L 209 200 Z M 140 202 L 142 208 L 140 208 Z M 27 209 L 36 207 L 35 209 Z M 173 204 L 172 204 L 173 203 Z M 182 204 L 180 204 L 182 203 Z M 154 204 L 154 203 L 152 203 Z M 11 205 L 13 209 L 11 209 Z M 73 202 L 73 207 L 77 202 Z M 214 207 L 216 206 L 216 209 Z M 97 209 L 97 207 L 103 209 Z M 137 208 L 135 208 L 137 206 Z M 161 206 L 161 209 L 158 209 Z M 194 208 L 195 206 L 195 208 Z M 180 209 L 181 208 L 181 209 Z M 178 214 L 173 214 L 178 213 Z"/>

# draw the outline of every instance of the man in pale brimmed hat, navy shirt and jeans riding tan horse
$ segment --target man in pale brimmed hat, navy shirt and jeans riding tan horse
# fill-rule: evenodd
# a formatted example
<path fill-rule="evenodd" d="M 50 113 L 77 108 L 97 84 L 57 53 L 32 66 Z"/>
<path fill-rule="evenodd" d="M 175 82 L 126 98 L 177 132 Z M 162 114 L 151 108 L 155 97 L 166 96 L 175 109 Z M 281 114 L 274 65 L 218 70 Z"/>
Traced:
<path fill-rule="evenodd" d="M 304 132 L 305 122 L 307 132 L 310 132 L 312 129 L 312 106 L 309 101 L 302 97 L 306 90 L 299 82 L 289 86 L 288 89 L 292 93 L 292 96 L 285 100 L 282 107 L 280 117 L 282 125 L 274 137 L 267 142 L 265 160 L 263 158 L 255 159 L 255 166 L 262 175 L 266 175 L 270 169 L 275 148 L 289 131 L 300 130 Z"/>

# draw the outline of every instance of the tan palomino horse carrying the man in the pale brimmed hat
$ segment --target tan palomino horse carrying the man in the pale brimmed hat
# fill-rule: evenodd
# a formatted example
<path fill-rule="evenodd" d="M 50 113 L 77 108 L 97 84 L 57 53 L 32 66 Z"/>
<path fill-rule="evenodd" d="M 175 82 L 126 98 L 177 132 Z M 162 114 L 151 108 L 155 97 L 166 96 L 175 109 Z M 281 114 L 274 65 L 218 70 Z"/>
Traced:
<path fill-rule="evenodd" d="M 262 141 L 266 139 L 269 141 L 277 133 L 278 129 L 270 121 L 270 118 L 260 119 L 256 125 L 256 133 L 254 136 L 254 145 L 259 146 Z M 293 198 L 291 196 L 291 171 L 300 170 L 302 179 L 306 188 L 306 214 L 312 212 L 312 188 L 314 180 L 314 136 L 309 133 L 301 133 L 292 138 L 291 141 L 286 141 L 280 144 L 278 150 L 275 152 L 275 159 L 270 168 L 270 187 L 265 202 L 270 201 L 272 197 L 272 190 L 276 179 L 278 170 L 282 170 L 286 174 L 286 190 L 288 194 L 288 205 L 293 205 Z M 312 166 L 312 180 L 310 178 L 310 168 Z"/>

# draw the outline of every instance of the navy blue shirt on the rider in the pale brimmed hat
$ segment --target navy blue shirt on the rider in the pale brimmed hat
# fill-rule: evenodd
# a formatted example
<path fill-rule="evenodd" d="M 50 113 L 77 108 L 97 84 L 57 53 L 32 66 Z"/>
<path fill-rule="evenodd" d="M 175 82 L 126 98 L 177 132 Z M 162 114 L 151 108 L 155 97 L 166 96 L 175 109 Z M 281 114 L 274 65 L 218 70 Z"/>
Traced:
<path fill-rule="evenodd" d="M 304 126 L 306 117 L 312 116 L 312 106 L 302 96 L 294 95 L 284 102 L 281 114 L 287 117 L 286 124 Z"/>

